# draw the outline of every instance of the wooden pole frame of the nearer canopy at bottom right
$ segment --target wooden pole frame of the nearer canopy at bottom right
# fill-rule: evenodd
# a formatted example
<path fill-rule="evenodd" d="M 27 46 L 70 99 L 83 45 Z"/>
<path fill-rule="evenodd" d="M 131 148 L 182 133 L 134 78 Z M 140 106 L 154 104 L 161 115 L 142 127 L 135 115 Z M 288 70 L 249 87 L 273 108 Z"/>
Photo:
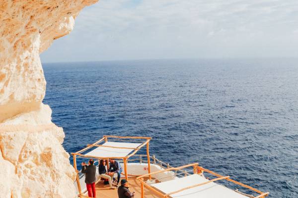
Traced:
<path fill-rule="evenodd" d="M 154 174 L 157 174 L 157 173 L 162 173 L 162 172 L 167 172 L 167 171 L 172 171 L 172 170 L 176 171 L 176 170 L 180 170 L 180 169 L 191 167 L 191 166 L 193 167 L 194 174 L 198 174 L 199 172 L 205 171 L 207 173 L 210 173 L 212 175 L 217 176 L 217 178 L 209 180 L 207 182 L 200 183 L 200 184 L 195 184 L 195 185 L 192 185 L 192 186 L 189 186 L 189 187 L 185 187 L 185 188 L 182 188 L 182 189 L 179 189 L 179 190 L 167 193 L 167 194 L 164 194 L 164 193 L 161 193 L 160 191 L 155 190 L 153 187 L 149 186 L 146 182 L 144 182 L 144 177 L 147 177 L 147 176 L 150 177 L 151 175 L 154 175 Z M 172 194 L 176 194 L 176 193 L 179 193 L 181 191 L 191 189 L 191 188 L 195 188 L 195 187 L 198 187 L 198 186 L 203 186 L 205 184 L 209 184 L 211 182 L 215 182 L 215 181 L 218 181 L 218 180 L 227 180 L 227 181 L 233 182 L 234 184 L 237 184 L 239 186 L 248 188 L 248 189 L 260 194 L 259 196 L 254 197 L 254 198 L 265 198 L 269 195 L 269 192 L 263 193 L 263 192 L 255 189 L 255 188 L 252 188 L 248 185 L 245 185 L 245 184 L 242 184 L 242 183 L 237 182 L 235 180 L 232 180 L 232 179 L 229 178 L 229 176 L 222 176 L 222 175 L 217 174 L 217 173 L 215 173 L 211 170 L 203 168 L 203 167 L 199 166 L 199 163 L 188 164 L 188 165 L 184 165 L 184 166 L 180 166 L 180 167 L 176 167 L 176 168 L 174 168 L 174 167 L 173 168 L 167 168 L 167 169 L 164 169 L 164 170 L 160 170 L 160 171 L 156 171 L 156 172 L 153 172 L 153 173 L 148 173 L 148 174 L 142 175 L 140 177 L 137 177 L 137 179 L 140 180 L 140 182 L 141 182 L 141 198 L 145 198 L 144 186 L 146 186 L 149 190 L 153 191 L 154 193 L 161 196 L 162 198 L 171 198 L 169 196 L 172 195 Z"/>

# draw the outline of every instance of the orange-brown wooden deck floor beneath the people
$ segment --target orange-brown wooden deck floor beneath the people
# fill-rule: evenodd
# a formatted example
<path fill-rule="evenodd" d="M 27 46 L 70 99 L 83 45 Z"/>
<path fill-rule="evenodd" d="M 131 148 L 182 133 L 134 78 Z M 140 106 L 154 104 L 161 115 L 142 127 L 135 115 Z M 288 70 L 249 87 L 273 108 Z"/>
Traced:
<path fill-rule="evenodd" d="M 148 178 L 145 178 L 148 179 Z M 135 198 L 141 198 L 141 184 L 135 177 L 129 177 L 129 190 L 130 192 L 135 192 Z M 118 198 L 117 188 L 110 189 L 109 185 L 103 185 L 102 182 L 98 182 L 95 186 L 96 189 L 96 198 Z M 145 198 L 160 198 L 155 195 L 152 191 L 145 190 Z M 81 198 L 88 198 L 88 194 L 85 193 L 85 196 L 81 196 Z"/>

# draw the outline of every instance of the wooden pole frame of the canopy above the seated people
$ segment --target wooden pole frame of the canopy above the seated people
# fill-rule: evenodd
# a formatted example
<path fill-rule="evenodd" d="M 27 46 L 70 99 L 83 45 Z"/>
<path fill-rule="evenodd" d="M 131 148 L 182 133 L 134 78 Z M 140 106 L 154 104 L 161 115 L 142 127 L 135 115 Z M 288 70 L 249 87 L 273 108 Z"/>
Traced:
<path fill-rule="evenodd" d="M 127 148 L 127 147 L 112 147 L 112 146 L 105 146 L 105 145 L 100 145 L 100 143 L 102 143 L 103 141 L 106 143 L 108 142 L 108 138 L 114 138 L 114 139 L 138 139 L 138 140 L 144 140 L 144 142 L 138 146 L 137 148 Z M 78 175 L 78 170 L 77 170 L 77 165 L 76 165 L 76 156 L 80 156 L 80 157 L 84 157 L 84 158 L 95 158 L 95 159 L 123 159 L 123 164 L 124 164 L 124 172 L 125 172 L 125 179 L 128 181 L 128 173 L 127 173 L 127 159 L 131 156 L 133 156 L 134 154 L 136 154 L 136 152 L 138 152 L 142 147 L 144 147 L 145 145 L 147 146 L 147 158 L 148 158 L 148 173 L 150 173 L 150 155 L 149 155 L 149 142 L 152 138 L 150 137 L 134 137 L 134 136 L 103 136 L 103 138 L 101 138 L 100 140 L 98 140 L 97 142 L 93 143 L 92 145 L 87 145 L 86 148 L 83 148 L 77 152 L 72 152 L 73 158 L 74 158 L 74 169 L 76 172 L 76 183 L 77 183 L 77 189 L 79 192 L 79 196 L 82 196 L 82 192 L 81 192 L 81 186 L 80 186 L 80 182 L 79 182 L 79 175 Z M 105 147 L 105 148 L 119 148 L 119 149 L 133 149 L 133 152 L 130 154 L 127 154 L 124 157 L 115 157 L 115 156 L 109 156 L 109 157 L 100 157 L 100 156 L 91 156 L 91 155 L 84 155 L 81 154 L 82 152 L 90 149 L 90 148 L 94 148 L 94 147 Z M 107 164 L 108 166 L 109 164 Z M 151 179 L 151 175 L 149 175 L 149 179 Z"/>

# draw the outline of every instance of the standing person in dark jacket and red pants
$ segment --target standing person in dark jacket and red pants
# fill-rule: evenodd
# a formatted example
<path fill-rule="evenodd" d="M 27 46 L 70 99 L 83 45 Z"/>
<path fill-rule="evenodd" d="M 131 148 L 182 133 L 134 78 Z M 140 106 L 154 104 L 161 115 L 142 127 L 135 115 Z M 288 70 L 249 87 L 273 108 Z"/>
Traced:
<path fill-rule="evenodd" d="M 82 173 L 85 174 L 85 183 L 87 186 L 88 197 L 96 198 L 96 191 L 95 191 L 95 173 L 96 173 L 96 166 L 94 165 L 93 159 L 90 159 L 88 162 L 88 166 L 85 162 L 82 162 Z"/>

